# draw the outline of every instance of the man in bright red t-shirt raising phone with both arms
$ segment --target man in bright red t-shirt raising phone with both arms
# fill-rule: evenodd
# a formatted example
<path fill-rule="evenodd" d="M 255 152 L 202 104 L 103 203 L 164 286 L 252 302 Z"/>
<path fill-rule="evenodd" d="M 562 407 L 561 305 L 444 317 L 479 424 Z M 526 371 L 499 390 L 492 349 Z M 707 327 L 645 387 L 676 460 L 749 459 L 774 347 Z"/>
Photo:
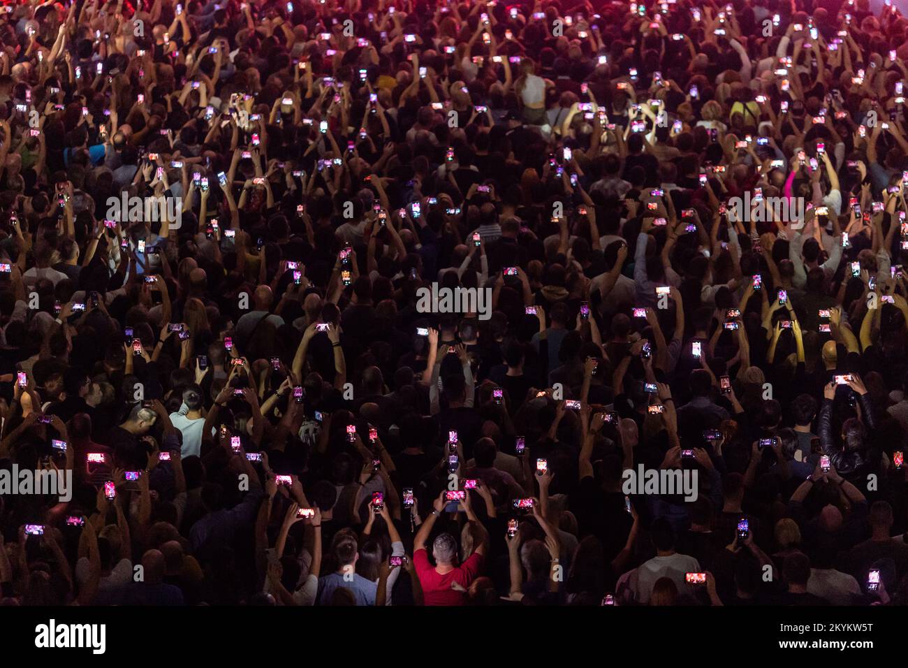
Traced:
<path fill-rule="evenodd" d="M 465 591 L 459 590 L 460 588 L 469 589 L 469 584 L 479 576 L 489 533 L 473 514 L 468 492 L 461 504 L 463 512 L 467 513 L 470 529 L 479 534 L 473 542 L 478 547 L 473 550 L 464 563 L 456 566 L 454 564 L 457 563 L 457 541 L 450 533 L 439 533 L 432 543 L 432 557 L 436 563 L 433 567 L 429 563 L 429 554 L 426 553 L 426 540 L 429 538 L 429 533 L 432 533 L 435 520 L 438 519 L 439 514 L 444 512 L 445 504 L 445 493 L 442 492 L 432 504 L 432 513 L 419 526 L 419 532 L 413 539 L 413 563 L 416 566 L 416 574 L 419 576 L 423 601 L 426 605 L 465 605 L 467 594 Z M 452 583 L 458 583 L 459 589 L 452 589 Z"/>

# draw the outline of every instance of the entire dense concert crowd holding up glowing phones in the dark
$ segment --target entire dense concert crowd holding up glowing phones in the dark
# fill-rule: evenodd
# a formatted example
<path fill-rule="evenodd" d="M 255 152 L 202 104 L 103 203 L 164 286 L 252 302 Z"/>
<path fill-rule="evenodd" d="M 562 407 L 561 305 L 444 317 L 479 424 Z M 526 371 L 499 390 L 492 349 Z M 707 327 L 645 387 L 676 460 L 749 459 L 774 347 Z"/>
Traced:
<path fill-rule="evenodd" d="M 0 474 L 72 480 L 0 487 L 3 603 L 908 602 L 906 57 L 868 0 L 0 8 Z"/>

